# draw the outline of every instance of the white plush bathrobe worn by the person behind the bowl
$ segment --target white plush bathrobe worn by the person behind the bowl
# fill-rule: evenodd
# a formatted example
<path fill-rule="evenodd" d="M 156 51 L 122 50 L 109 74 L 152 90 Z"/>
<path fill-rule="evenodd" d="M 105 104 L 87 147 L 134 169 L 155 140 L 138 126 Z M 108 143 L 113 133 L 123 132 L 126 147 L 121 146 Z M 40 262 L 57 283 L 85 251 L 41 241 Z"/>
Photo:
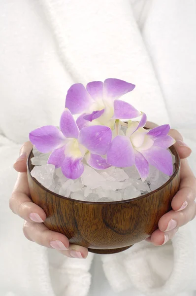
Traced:
<path fill-rule="evenodd" d="M 107 77 L 136 84 L 125 100 L 182 132 L 196 173 L 196 0 L 0 1 L 0 296 L 196 291 L 196 221 L 162 247 L 82 260 L 28 241 L 8 208 L 29 132 L 59 124 L 71 84 Z"/>

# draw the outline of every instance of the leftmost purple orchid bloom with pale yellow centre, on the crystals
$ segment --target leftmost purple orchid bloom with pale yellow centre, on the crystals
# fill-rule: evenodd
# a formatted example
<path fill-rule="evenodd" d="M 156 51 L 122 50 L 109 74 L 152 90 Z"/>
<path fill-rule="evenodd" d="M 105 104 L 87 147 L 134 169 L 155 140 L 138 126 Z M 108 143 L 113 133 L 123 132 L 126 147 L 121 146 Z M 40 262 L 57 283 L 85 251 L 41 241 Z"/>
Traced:
<path fill-rule="evenodd" d="M 112 139 L 109 127 L 94 125 L 84 127 L 81 131 L 71 112 L 65 108 L 60 119 L 60 130 L 53 125 L 43 126 L 30 133 L 30 141 L 42 153 L 51 152 L 48 163 L 61 167 L 66 178 L 77 179 L 84 171 L 82 160 L 95 169 L 110 167 L 106 154 Z"/>

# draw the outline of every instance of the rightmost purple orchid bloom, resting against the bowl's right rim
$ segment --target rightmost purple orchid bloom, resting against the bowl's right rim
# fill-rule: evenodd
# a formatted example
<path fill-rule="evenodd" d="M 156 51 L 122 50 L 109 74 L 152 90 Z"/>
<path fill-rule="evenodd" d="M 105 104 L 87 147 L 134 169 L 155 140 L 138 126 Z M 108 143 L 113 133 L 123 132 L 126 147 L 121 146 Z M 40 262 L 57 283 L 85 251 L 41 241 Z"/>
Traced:
<path fill-rule="evenodd" d="M 166 175 L 173 172 L 172 157 L 166 148 L 175 143 L 168 134 L 168 124 L 158 126 L 148 131 L 146 114 L 142 113 L 141 121 L 129 122 L 126 136 L 113 139 L 107 151 L 107 163 L 116 167 L 130 167 L 135 165 L 142 181 L 149 173 L 149 164 L 155 166 Z"/>

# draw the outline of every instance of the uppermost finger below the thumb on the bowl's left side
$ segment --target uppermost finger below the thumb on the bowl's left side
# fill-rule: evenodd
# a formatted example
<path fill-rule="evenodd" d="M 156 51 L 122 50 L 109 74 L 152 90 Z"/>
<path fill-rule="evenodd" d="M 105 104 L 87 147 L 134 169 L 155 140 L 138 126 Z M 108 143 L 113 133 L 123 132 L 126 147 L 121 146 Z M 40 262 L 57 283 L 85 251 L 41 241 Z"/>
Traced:
<path fill-rule="evenodd" d="M 27 173 L 19 173 L 9 200 L 10 209 L 14 214 L 17 214 L 26 221 L 44 222 L 46 219 L 45 212 L 32 202 L 29 195 Z"/>

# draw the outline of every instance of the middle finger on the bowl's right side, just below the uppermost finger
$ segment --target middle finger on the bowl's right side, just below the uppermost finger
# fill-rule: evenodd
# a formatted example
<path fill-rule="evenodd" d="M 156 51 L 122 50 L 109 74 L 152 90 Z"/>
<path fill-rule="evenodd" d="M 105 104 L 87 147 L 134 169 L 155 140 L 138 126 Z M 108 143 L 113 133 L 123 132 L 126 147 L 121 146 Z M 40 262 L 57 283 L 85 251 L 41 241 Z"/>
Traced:
<path fill-rule="evenodd" d="M 185 225 L 196 217 L 196 203 L 190 202 L 189 205 L 180 212 L 173 210 L 163 215 L 159 221 L 159 229 L 163 232 L 170 231 Z"/>

